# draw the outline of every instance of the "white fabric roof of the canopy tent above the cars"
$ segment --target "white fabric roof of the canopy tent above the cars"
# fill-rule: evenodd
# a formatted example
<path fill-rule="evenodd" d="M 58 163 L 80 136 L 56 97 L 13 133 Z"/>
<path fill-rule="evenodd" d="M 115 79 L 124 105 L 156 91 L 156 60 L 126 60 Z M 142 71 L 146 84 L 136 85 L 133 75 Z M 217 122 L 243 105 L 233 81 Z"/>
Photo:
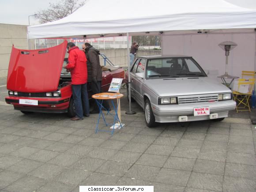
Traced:
<path fill-rule="evenodd" d="M 241 28 L 256 28 L 256 10 L 225 0 L 87 0 L 83 7 L 63 19 L 29 26 L 28 38 Z"/>

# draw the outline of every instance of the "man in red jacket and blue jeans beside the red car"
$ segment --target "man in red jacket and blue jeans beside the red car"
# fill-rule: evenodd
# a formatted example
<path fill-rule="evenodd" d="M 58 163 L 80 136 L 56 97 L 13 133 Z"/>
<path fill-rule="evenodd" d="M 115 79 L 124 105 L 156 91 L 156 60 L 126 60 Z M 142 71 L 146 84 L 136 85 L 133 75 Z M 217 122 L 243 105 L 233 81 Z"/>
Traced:
<path fill-rule="evenodd" d="M 90 107 L 87 93 L 87 59 L 82 50 L 80 50 L 74 43 L 69 42 L 68 49 L 68 64 L 63 68 L 66 68 L 71 73 L 72 81 L 72 94 L 75 105 L 75 117 L 71 120 L 83 120 L 83 114 L 85 117 L 89 117 Z M 81 98 L 82 95 L 82 98 Z M 83 102 L 83 104 L 82 104 Z M 84 106 L 84 112 L 83 112 Z"/>

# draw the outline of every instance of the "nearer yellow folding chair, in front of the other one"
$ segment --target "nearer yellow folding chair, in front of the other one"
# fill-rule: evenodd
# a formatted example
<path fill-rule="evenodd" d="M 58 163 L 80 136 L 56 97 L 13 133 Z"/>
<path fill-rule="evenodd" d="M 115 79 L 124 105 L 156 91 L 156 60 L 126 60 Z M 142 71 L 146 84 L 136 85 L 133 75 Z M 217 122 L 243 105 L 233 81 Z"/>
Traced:
<path fill-rule="evenodd" d="M 252 96 L 254 82 L 255 79 L 238 79 L 237 90 L 233 90 L 233 99 L 235 102 L 237 102 L 237 113 L 238 111 L 251 112 L 249 98 Z"/>

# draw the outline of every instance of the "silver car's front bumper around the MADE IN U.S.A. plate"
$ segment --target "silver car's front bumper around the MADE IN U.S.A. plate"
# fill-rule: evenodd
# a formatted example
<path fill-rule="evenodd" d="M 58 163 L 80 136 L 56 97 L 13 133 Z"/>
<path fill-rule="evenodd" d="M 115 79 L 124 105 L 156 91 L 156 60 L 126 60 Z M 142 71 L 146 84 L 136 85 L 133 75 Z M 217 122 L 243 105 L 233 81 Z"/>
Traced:
<path fill-rule="evenodd" d="M 181 105 L 155 105 L 151 103 L 155 121 L 160 123 L 179 122 L 179 116 L 188 116 L 188 121 L 207 120 L 209 115 L 194 116 L 195 107 L 209 107 L 210 113 L 218 113 L 218 118 L 228 117 L 228 112 L 236 108 L 233 100 L 213 103 L 193 103 Z"/>

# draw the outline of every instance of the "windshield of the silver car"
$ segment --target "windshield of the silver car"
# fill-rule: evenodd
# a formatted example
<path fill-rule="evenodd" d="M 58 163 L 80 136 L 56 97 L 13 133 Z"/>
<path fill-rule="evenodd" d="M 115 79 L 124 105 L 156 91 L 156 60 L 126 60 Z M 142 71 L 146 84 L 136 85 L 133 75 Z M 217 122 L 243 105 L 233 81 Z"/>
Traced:
<path fill-rule="evenodd" d="M 205 72 L 191 57 L 149 59 L 146 69 L 147 78 L 205 76 L 207 76 Z"/>

